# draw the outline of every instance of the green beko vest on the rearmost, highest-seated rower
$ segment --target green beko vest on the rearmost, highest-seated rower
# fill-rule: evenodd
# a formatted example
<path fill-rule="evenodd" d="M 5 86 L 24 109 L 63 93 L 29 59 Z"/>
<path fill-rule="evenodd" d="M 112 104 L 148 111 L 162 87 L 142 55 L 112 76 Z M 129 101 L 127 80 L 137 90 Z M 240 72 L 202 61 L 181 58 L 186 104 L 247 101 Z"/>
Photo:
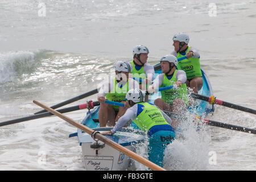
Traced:
<path fill-rule="evenodd" d="M 190 47 L 188 47 L 187 52 L 189 52 Z M 179 52 L 177 53 L 177 59 L 183 57 Z M 177 69 L 183 70 L 186 72 L 187 79 L 192 79 L 195 77 L 201 77 L 201 67 L 200 67 L 200 59 L 191 57 L 189 59 L 181 60 L 177 63 Z"/>

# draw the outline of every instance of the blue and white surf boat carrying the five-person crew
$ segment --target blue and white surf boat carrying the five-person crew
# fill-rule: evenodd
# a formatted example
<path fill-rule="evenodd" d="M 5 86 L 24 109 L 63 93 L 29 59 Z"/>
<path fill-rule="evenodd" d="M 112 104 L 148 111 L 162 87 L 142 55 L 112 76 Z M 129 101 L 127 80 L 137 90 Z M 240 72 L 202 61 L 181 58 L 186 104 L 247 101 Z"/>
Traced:
<path fill-rule="evenodd" d="M 162 73 L 160 64 L 155 65 L 155 73 Z M 203 69 L 201 69 L 204 84 L 199 90 L 199 94 L 204 96 L 213 96 L 212 86 L 210 85 L 209 79 Z M 155 74 L 156 75 L 156 74 Z M 154 104 L 154 100 L 160 97 L 160 92 L 151 94 L 149 102 Z M 86 117 L 82 121 L 82 125 L 89 127 L 96 131 L 109 131 L 112 127 L 100 127 L 98 122 L 98 111 L 100 106 L 94 107 L 89 110 Z M 200 117 L 206 117 L 210 112 L 214 111 L 213 105 L 209 105 L 207 101 L 198 100 L 198 104 L 195 108 L 190 108 L 191 112 L 195 112 Z M 121 152 L 114 150 L 110 146 L 99 144 L 98 141 L 94 141 L 92 137 L 80 129 L 77 130 L 76 134 L 71 134 L 70 137 L 77 136 L 79 144 L 82 148 L 82 156 L 86 170 L 132 170 L 134 169 L 133 160 L 122 154 Z M 134 122 L 131 123 L 131 129 L 123 128 L 115 133 L 113 136 L 108 136 L 114 142 L 125 146 L 131 151 L 135 151 L 136 144 L 142 143 L 145 140 L 145 133 L 138 130 L 138 127 Z"/>

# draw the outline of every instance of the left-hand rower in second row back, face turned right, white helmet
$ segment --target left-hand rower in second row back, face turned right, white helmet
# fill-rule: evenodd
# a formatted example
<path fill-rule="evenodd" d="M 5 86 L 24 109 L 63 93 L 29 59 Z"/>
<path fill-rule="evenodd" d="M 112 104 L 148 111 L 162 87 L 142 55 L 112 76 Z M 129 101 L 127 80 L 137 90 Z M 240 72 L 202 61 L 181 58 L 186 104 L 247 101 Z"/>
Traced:
<path fill-rule="evenodd" d="M 154 67 L 147 63 L 148 53 L 149 51 L 146 46 L 135 46 L 133 48 L 133 60 L 129 63 L 133 68 L 131 71 L 133 77 L 143 80 L 139 82 L 140 89 L 142 90 L 146 90 L 145 85 L 149 85 L 155 75 Z"/>

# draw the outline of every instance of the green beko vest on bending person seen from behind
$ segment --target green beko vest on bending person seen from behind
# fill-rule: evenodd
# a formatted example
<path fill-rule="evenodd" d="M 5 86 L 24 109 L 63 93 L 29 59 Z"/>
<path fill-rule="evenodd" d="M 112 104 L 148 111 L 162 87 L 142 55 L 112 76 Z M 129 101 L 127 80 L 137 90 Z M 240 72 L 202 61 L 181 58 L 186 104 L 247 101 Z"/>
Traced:
<path fill-rule="evenodd" d="M 158 107 L 147 102 L 139 102 L 138 104 L 144 106 L 143 111 L 133 121 L 139 129 L 148 132 L 152 126 L 169 125 Z"/>

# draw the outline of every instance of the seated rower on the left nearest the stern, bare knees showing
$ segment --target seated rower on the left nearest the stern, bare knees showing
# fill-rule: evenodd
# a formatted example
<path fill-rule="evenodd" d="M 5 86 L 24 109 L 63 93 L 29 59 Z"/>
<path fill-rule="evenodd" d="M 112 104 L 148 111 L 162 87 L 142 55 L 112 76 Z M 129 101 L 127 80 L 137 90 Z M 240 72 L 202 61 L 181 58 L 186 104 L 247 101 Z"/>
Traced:
<path fill-rule="evenodd" d="M 100 110 L 98 118 L 100 127 L 114 126 L 115 122 L 125 114 L 129 104 L 125 102 L 126 93 L 132 88 L 139 88 L 137 81 L 129 78 L 131 72 L 130 65 L 125 61 L 118 61 L 115 64 L 115 77 L 110 78 L 102 84 L 98 92 L 98 101 L 100 102 Z M 105 104 L 105 101 L 122 102 L 125 107 L 113 106 Z"/>

